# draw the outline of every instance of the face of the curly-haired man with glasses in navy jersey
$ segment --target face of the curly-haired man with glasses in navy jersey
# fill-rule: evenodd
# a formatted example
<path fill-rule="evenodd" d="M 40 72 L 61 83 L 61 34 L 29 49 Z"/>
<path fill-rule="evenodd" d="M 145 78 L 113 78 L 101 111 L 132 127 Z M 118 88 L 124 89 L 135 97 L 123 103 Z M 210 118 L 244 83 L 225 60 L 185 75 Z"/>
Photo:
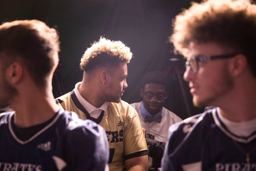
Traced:
<path fill-rule="evenodd" d="M 221 46 L 215 43 L 189 45 L 187 61 L 191 56 L 228 54 Z M 215 59 L 199 62 L 198 72 L 194 73 L 187 68 L 184 80 L 189 82 L 190 93 L 193 95 L 195 106 L 220 106 L 228 102 L 228 93 L 233 87 L 233 79 L 228 70 L 228 59 Z"/>

